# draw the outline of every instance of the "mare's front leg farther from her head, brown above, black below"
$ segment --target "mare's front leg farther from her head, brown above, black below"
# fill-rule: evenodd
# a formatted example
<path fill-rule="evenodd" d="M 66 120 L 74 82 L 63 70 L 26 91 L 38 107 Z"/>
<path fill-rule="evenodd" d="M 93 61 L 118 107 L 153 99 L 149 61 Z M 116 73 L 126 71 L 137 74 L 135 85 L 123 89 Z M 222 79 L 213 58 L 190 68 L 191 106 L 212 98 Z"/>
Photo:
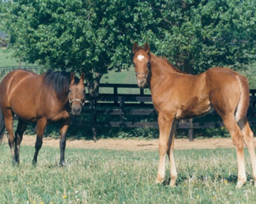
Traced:
<path fill-rule="evenodd" d="M 44 118 L 41 118 L 37 122 L 36 126 L 36 142 L 35 142 L 35 154 L 32 163 L 36 164 L 37 162 L 37 157 L 38 157 L 38 152 L 42 147 L 43 144 L 43 136 L 44 136 L 44 130 L 47 125 L 47 120 Z"/>

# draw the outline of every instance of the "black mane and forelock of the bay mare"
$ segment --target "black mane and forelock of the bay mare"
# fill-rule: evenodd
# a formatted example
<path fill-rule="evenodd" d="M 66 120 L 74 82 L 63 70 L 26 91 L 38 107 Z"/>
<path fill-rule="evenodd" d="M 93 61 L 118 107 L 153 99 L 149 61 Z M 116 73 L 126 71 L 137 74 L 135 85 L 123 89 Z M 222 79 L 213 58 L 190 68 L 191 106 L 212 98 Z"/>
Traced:
<path fill-rule="evenodd" d="M 52 88 L 58 96 L 67 93 L 70 86 L 70 72 L 48 70 L 44 74 L 43 83 Z M 79 78 L 75 77 L 74 84 L 79 84 Z"/>

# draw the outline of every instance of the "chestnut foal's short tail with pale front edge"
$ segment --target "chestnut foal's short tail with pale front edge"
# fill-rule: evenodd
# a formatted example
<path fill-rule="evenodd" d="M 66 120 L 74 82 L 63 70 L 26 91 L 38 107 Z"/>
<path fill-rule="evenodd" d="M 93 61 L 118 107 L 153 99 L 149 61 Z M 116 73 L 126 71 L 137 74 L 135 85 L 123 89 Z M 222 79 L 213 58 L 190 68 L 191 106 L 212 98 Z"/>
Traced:
<path fill-rule="evenodd" d="M 249 95 L 249 84 L 246 77 L 241 75 L 236 75 L 236 78 L 239 83 L 240 88 L 240 100 L 236 108 L 236 121 L 239 122 L 240 119 L 243 119 L 247 115 L 250 95 Z"/>

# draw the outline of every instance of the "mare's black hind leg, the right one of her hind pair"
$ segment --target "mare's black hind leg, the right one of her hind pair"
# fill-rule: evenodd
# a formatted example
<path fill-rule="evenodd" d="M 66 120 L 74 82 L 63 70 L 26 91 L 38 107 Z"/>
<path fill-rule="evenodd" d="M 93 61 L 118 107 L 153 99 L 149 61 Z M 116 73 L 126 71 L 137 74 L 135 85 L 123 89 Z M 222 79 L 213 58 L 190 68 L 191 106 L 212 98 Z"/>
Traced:
<path fill-rule="evenodd" d="M 17 130 L 15 132 L 15 159 L 16 162 L 20 163 L 20 142 L 23 138 L 23 133 L 26 130 L 28 123 L 19 119 Z"/>

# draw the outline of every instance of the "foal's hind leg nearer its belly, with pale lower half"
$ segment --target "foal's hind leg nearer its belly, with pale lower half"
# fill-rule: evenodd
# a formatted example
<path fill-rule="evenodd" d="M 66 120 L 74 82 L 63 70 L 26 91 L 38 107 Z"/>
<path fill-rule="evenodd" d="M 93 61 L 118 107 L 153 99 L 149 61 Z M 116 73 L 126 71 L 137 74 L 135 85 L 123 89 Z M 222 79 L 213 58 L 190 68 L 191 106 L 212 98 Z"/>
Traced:
<path fill-rule="evenodd" d="M 244 164 L 244 139 L 243 133 L 238 126 L 233 114 L 222 117 L 227 130 L 229 130 L 233 144 L 236 146 L 238 181 L 236 187 L 240 188 L 246 182 L 245 164 Z"/>

